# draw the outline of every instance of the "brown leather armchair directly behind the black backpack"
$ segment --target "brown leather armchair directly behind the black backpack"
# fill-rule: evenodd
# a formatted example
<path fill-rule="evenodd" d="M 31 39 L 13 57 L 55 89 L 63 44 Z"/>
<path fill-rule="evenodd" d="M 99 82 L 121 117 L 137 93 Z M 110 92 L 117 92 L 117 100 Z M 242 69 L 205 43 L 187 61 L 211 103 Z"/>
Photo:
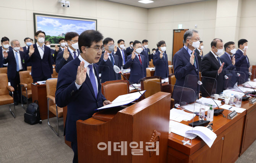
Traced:
<path fill-rule="evenodd" d="M 33 83 L 33 79 L 30 73 L 31 73 L 31 70 L 19 72 L 19 80 L 21 85 L 21 106 L 25 110 L 26 108 L 23 106 L 22 96 L 27 98 L 27 106 L 28 106 L 28 99 L 32 98 L 31 83 Z"/>

